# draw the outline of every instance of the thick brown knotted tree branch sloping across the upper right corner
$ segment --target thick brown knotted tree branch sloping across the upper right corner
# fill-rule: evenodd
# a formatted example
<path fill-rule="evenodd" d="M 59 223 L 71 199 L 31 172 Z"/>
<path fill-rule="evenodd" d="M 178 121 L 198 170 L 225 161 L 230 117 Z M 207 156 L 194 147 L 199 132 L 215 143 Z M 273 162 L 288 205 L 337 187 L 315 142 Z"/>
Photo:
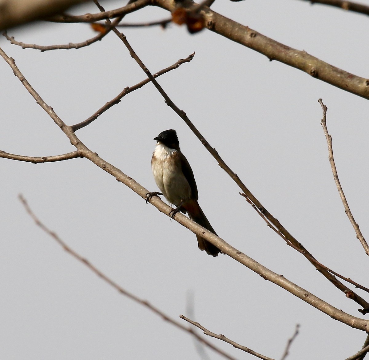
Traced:
<path fill-rule="evenodd" d="M 176 8 L 175 1 L 152 0 L 153 4 L 168 11 Z M 181 6 L 192 11 L 198 4 L 190 0 L 181 1 Z M 369 99 L 369 80 L 350 74 L 347 71 L 334 67 L 305 51 L 293 49 L 287 45 L 278 43 L 247 26 L 241 25 L 227 17 L 224 17 L 209 8 L 200 11 L 205 18 L 206 27 L 215 33 L 222 35 L 236 43 L 258 51 L 269 58 L 306 72 L 328 84 L 351 92 L 352 94 Z"/>

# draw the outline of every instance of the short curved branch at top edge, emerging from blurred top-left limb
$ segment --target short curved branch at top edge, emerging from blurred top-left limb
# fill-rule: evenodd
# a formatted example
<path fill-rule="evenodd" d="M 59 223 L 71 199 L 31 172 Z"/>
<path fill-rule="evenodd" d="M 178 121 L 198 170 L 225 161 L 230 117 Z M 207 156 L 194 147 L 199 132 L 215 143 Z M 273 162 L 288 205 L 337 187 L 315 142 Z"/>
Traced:
<path fill-rule="evenodd" d="M 54 23 L 95 23 L 99 20 L 112 19 L 114 17 L 122 16 L 125 14 L 133 13 L 143 7 L 151 4 L 151 0 L 137 0 L 128 3 L 126 6 L 120 7 L 110 11 L 102 11 L 97 14 L 85 14 L 85 15 L 55 15 L 46 18 L 45 20 L 52 21 Z"/>

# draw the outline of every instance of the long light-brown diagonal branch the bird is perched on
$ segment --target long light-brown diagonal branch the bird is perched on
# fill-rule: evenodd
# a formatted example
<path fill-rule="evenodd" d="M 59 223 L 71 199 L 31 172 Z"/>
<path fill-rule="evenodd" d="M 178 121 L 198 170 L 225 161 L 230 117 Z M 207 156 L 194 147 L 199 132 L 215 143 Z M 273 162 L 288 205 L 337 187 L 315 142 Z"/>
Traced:
<path fill-rule="evenodd" d="M 131 177 L 124 174 L 121 170 L 117 169 L 115 166 L 106 162 L 97 153 L 92 152 L 80 141 L 80 139 L 73 132 L 72 127 L 66 125 L 63 122 L 63 120 L 59 118 L 58 115 L 56 115 L 52 107 L 48 106 L 45 103 L 45 101 L 37 94 L 34 88 L 32 88 L 30 83 L 24 78 L 23 74 L 20 72 L 17 65 L 15 65 L 14 59 L 9 58 L 1 48 L 0 48 L 0 56 L 4 58 L 4 60 L 13 70 L 14 75 L 21 81 L 23 86 L 37 101 L 37 103 L 41 106 L 41 108 L 44 109 L 44 111 L 52 118 L 52 120 L 56 123 L 56 125 L 58 125 L 59 128 L 65 133 L 65 135 L 70 140 L 70 143 L 77 148 L 77 150 L 83 157 L 86 157 L 86 159 L 90 160 L 107 173 L 113 175 L 116 180 L 128 186 L 131 190 L 133 190 L 136 194 L 138 194 L 142 198 L 144 199 L 146 198 L 146 194 L 148 193 L 147 189 L 145 189 L 143 186 L 141 186 L 141 184 L 137 183 L 137 181 L 135 181 Z M 154 196 L 149 200 L 149 202 L 152 205 L 154 205 L 159 211 L 166 214 L 168 217 L 171 217 L 171 211 L 173 209 L 169 205 L 163 203 L 163 201 L 159 197 Z M 321 300 L 312 293 L 294 284 L 292 281 L 289 281 L 283 275 L 276 274 L 275 272 L 269 270 L 265 266 L 259 264 L 254 259 L 248 257 L 246 254 L 232 247 L 223 239 L 221 239 L 217 235 L 214 235 L 207 229 L 201 227 L 199 224 L 190 220 L 185 215 L 176 214 L 175 221 L 177 221 L 184 227 L 188 228 L 194 234 L 200 235 L 205 240 L 211 242 L 211 244 L 219 248 L 222 252 L 224 252 L 224 254 L 227 254 L 232 259 L 249 268 L 251 271 L 254 271 L 256 274 L 262 276 L 263 279 L 273 282 L 277 286 L 280 286 L 286 291 L 292 293 L 297 298 L 313 306 L 315 309 L 318 309 L 321 312 L 332 317 L 332 319 L 338 320 L 339 322 L 342 322 L 350 327 L 354 327 L 355 329 L 369 332 L 369 320 L 360 319 L 358 317 L 349 315 L 348 313 L 345 313 L 342 310 L 335 308 L 331 304 L 325 302 L 324 300 Z"/>

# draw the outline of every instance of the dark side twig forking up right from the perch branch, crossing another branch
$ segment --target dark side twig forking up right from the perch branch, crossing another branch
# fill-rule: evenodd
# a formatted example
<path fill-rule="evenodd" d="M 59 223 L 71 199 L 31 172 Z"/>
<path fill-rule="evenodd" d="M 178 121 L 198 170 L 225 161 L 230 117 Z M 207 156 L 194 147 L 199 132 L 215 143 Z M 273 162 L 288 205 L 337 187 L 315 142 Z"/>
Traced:
<path fill-rule="evenodd" d="M 189 56 L 187 56 L 185 59 L 180 59 L 178 60 L 175 64 L 170 65 L 169 67 L 162 69 L 158 72 L 156 72 L 153 77 L 157 78 L 160 75 L 166 74 L 167 72 L 174 70 L 176 68 L 178 68 L 180 65 L 184 64 L 185 62 L 190 62 L 193 57 L 195 56 L 195 53 L 193 52 L 192 54 L 190 54 Z M 121 101 L 121 99 L 129 94 L 132 91 L 135 91 L 139 88 L 142 88 L 142 86 L 146 85 L 148 82 L 150 82 L 150 79 L 147 78 L 141 82 L 139 82 L 136 85 L 133 85 L 131 87 L 127 87 L 125 88 L 119 95 L 115 96 L 114 99 L 112 99 L 111 101 L 107 102 L 104 106 L 102 106 L 99 110 L 97 110 L 93 115 L 91 115 L 88 119 L 83 120 L 82 122 L 76 124 L 76 125 L 72 125 L 72 128 L 74 131 L 77 131 L 79 129 L 82 129 L 83 127 L 89 125 L 90 123 L 92 123 L 94 120 L 96 120 L 103 112 L 107 111 L 108 109 L 110 109 L 113 105 L 119 103 Z"/>

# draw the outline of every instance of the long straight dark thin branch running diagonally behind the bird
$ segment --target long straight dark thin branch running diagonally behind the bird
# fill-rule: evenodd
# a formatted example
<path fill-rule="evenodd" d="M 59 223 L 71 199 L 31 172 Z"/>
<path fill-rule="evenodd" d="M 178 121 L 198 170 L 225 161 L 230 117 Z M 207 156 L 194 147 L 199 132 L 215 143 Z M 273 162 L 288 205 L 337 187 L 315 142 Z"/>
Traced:
<path fill-rule="evenodd" d="M 123 33 L 117 30 L 117 28 L 113 28 L 113 32 L 123 41 L 123 44 L 127 47 L 128 51 L 130 52 L 130 55 L 134 60 L 137 62 L 137 64 L 141 67 L 141 69 L 145 72 L 145 74 L 148 76 L 148 78 L 151 80 L 151 82 L 154 84 L 156 89 L 159 91 L 159 93 L 163 96 L 165 103 L 170 106 L 170 108 L 175 111 L 180 118 L 184 120 L 184 122 L 189 126 L 189 128 L 192 130 L 192 132 L 198 137 L 198 139 L 201 141 L 201 143 L 206 147 L 206 149 L 213 155 L 215 160 L 218 161 L 218 165 L 228 174 L 231 176 L 231 178 L 237 183 L 237 185 L 241 188 L 241 190 L 244 192 L 245 196 L 247 196 L 252 203 L 255 204 L 255 206 L 261 211 L 266 218 L 272 223 L 281 233 L 283 233 L 284 237 L 288 241 L 290 241 L 295 247 L 301 249 L 301 254 L 303 254 L 308 261 L 310 261 L 314 266 L 316 266 L 317 270 L 321 272 L 327 278 L 334 286 L 336 286 L 339 290 L 346 294 L 350 294 L 349 298 L 354 300 L 356 303 L 362 306 L 363 310 L 359 310 L 362 313 L 366 313 L 369 311 L 369 303 L 361 298 L 361 296 L 357 295 L 354 291 L 349 289 L 347 286 L 345 286 L 343 283 L 337 280 L 334 275 L 332 275 L 329 271 L 325 270 L 324 268 L 317 266 L 316 262 L 313 261 L 314 257 L 311 255 L 306 248 L 303 247 L 303 245 L 298 242 L 280 223 L 277 219 L 275 219 L 266 209 L 261 205 L 261 203 L 255 198 L 254 195 L 246 188 L 246 186 L 242 183 L 242 181 L 239 179 L 237 174 L 235 174 L 230 167 L 225 164 L 223 159 L 219 156 L 217 151 L 210 146 L 210 144 L 205 140 L 205 138 L 201 135 L 199 130 L 196 129 L 196 127 L 193 125 L 193 123 L 190 121 L 190 119 L 187 117 L 186 113 L 183 110 L 180 110 L 175 103 L 169 98 L 169 96 L 166 94 L 166 92 L 163 90 L 163 88 L 158 84 L 158 82 L 155 80 L 155 78 L 152 76 L 151 72 L 148 68 L 144 65 L 144 63 L 141 61 L 141 59 L 138 57 L 138 55 L 135 53 L 131 45 L 128 43 L 127 38 Z"/>

